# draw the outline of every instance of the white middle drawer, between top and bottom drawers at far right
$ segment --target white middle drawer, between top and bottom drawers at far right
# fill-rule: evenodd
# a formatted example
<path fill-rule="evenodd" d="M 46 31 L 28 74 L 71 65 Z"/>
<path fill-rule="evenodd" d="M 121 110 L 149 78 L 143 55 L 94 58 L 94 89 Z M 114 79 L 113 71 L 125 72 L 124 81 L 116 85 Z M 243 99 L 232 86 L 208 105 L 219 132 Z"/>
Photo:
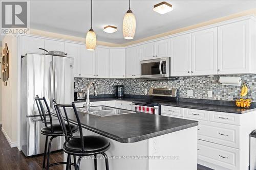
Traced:
<path fill-rule="evenodd" d="M 201 121 L 198 125 L 198 139 L 239 149 L 239 137 L 240 127 L 236 125 L 205 121 Z"/>

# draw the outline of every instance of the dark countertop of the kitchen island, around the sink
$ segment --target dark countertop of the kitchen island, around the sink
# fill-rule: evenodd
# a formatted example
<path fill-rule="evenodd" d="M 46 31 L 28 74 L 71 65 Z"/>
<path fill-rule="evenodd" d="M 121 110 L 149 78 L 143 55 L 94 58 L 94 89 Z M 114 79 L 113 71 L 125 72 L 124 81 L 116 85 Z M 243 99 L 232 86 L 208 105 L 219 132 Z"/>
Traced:
<path fill-rule="evenodd" d="M 56 116 L 55 110 L 51 111 Z M 67 109 L 67 114 L 70 122 L 77 125 L 74 111 Z M 140 112 L 106 117 L 83 112 L 78 115 L 83 128 L 121 143 L 137 142 L 198 125 L 193 120 Z"/>

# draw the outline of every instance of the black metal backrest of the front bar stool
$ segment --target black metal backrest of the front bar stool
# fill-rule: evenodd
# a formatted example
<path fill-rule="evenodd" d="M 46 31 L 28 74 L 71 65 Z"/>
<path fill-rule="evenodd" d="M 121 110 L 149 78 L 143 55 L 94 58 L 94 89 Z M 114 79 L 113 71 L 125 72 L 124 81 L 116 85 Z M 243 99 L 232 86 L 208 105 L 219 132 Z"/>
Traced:
<path fill-rule="evenodd" d="M 80 145 L 81 145 L 80 151 L 84 152 L 82 126 L 81 126 L 79 116 L 77 114 L 75 103 L 72 102 L 71 105 L 63 105 L 63 104 L 56 104 L 56 102 L 54 101 L 53 106 L 56 110 L 56 113 L 57 113 L 57 116 L 58 116 L 58 119 L 59 119 L 59 123 L 61 125 L 62 131 L 63 131 L 63 134 L 65 135 L 65 137 L 70 138 L 70 139 L 79 138 L 80 139 Z M 71 126 L 70 126 L 70 120 L 69 120 L 66 108 L 69 109 L 69 112 L 73 110 L 72 112 L 75 113 L 76 122 L 78 124 L 80 136 L 73 136 L 72 129 L 71 129 Z M 65 121 L 67 122 L 68 126 L 66 126 Z"/>

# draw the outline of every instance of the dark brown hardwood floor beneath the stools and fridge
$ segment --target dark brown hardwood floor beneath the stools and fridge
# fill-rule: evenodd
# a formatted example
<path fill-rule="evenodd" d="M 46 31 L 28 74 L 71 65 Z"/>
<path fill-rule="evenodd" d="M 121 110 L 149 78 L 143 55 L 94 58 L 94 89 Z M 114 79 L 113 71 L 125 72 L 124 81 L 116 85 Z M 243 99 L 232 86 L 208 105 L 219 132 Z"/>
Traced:
<path fill-rule="evenodd" d="M 42 169 L 43 155 L 32 157 L 25 157 L 17 148 L 11 148 L 6 140 L 0 125 L 0 170 L 37 170 Z M 63 159 L 63 152 L 53 152 L 51 154 L 50 163 L 61 162 Z M 63 165 L 53 166 L 50 169 L 63 170 Z M 100 169 L 99 169 L 100 170 Z M 211 170 L 202 165 L 198 165 L 198 170 Z"/>

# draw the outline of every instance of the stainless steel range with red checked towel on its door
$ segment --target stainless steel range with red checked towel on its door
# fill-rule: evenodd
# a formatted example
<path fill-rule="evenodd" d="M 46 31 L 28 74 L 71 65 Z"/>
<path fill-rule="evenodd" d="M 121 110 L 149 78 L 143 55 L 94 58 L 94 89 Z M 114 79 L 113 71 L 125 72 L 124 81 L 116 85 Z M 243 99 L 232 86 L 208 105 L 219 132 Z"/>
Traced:
<path fill-rule="evenodd" d="M 179 92 L 176 88 L 150 88 L 150 98 L 133 101 L 133 110 L 160 115 L 159 103 L 177 102 L 178 95 Z M 138 107 L 140 108 L 138 109 Z"/>

